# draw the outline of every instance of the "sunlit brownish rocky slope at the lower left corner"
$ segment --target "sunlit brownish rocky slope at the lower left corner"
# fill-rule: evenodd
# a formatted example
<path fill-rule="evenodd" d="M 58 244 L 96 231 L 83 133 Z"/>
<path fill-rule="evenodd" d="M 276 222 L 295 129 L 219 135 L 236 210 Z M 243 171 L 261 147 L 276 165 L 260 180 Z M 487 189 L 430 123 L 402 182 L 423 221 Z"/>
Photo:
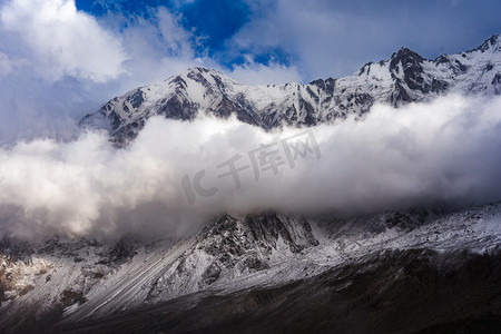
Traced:
<path fill-rule="evenodd" d="M 86 303 L 89 291 L 136 254 L 126 238 L 109 245 L 59 237 L 42 245 L 2 240 L 0 330 L 24 333 L 30 321 L 59 318 L 65 307 Z"/>

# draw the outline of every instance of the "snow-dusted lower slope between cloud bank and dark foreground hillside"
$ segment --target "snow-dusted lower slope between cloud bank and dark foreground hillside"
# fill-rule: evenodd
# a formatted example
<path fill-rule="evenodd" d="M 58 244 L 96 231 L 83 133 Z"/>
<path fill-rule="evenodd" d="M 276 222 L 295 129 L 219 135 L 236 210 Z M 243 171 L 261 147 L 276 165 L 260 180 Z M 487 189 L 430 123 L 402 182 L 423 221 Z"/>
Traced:
<path fill-rule="evenodd" d="M 391 264 L 392 275 L 396 275 L 384 277 L 387 291 L 402 279 L 418 279 L 416 284 L 428 279 L 426 272 L 419 272 L 422 263 L 431 266 L 424 269 L 438 271 L 436 279 L 443 284 L 453 282 L 454 273 L 441 276 L 441 263 L 463 266 L 471 256 L 489 259 L 483 263 L 485 267 L 473 268 L 480 271 L 474 273 L 480 275 L 478 288 L 487 288 L 482 279 L 501 279 L 501 269 L 493 269 L 500 265 L 495 256 L 501 245 L 501 204 L 448 215 L 421 209 L 333 219 L 223 215 L 197 235 L 177 242 L 122 239 L 108 245 L 56 238 L 28 248 L 3 244 L 0 327 L 23 332 L 37 325 L 40 332 L 71 332 L 75 326 L 110 316 L 137 316 L 137 312 L 149 312 L 158 305 L 180 303 L 177 311 L 197 310 L 208 296 L 224 301 L 293 282 L 301 286 L 326 275 L 333 276 L 331 286 L 343 291 L 357 284 L 355 276 L 384 264 Z M 407 266 L 416 266 L 418 272 L 407 273 Z M 343 274 L 346 271 L 353 273 Z M 489 296 L 499 299 L 499 295 Z M 275 298 L 267 296 L 259 303 L 274 305 Z M 497 306 L 489 310 L 501 311 Z M 232 318 L 232 313 L 225 312 L 219 314 L 222 322 Z M 386 312 L 397 310 L 389 306 Z M 217 317 L 212 321 L 217 323 Z M 416 328 L 443 322 L 431 317 Z M 163 327 L 145 328 L 153 333 Z M 92 326 L 82 330 L 96 331 Z M 138 330 L 122 330 L 134 331 Z"/>

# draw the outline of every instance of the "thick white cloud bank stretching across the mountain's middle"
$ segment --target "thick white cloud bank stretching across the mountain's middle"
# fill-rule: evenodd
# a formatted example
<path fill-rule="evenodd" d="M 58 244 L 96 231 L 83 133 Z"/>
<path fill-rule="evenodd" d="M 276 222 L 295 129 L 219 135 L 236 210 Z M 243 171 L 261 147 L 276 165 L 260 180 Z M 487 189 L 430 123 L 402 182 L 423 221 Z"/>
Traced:
<path fill-rule="evenodd" d="M 311 130 L 151 118 L 127 149 L 102 132 L 17 143 L 0 149 L 0 230 L 174 237 L 222 212 L 356 214 L 501 199 L 501 98 L 375 106 L 361 120 Z"/>

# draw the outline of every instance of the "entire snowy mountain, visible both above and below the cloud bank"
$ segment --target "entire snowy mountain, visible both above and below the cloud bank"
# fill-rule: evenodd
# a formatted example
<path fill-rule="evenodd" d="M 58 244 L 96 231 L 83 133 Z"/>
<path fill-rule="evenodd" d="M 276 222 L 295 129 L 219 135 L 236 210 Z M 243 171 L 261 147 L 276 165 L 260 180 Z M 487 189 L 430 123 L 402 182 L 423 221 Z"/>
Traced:
<path fill-rule="evenodd" d="M 500 95 L 500 36 L 435 60 L 402 48 L 308 85 L 246 86 L 194 68 L 114 98 L 81 125 L 104 125 L 121 146 L 154 115 L 314 126 L 454 91 Z M 495 333 L 500 246 L 501 203 L 352 217 L 222 213 L 190 237 L 156 242 L 3 239 L 0 332 Z"/>

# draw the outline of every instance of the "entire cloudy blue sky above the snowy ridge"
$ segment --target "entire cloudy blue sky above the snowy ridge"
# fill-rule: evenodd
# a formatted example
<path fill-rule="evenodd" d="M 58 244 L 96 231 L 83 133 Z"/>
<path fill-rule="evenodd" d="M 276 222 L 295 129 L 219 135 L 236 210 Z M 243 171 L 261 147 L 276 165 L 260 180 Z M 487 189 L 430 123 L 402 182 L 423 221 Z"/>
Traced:
<path fill-rule="evenodd" d="M 500 12 L 493 0 L 0 0 L 0 143 L 71 136 L 111 97 L 193 66 L 308 82 L 403 46 L 460 52 L 501 33 Z"/>

